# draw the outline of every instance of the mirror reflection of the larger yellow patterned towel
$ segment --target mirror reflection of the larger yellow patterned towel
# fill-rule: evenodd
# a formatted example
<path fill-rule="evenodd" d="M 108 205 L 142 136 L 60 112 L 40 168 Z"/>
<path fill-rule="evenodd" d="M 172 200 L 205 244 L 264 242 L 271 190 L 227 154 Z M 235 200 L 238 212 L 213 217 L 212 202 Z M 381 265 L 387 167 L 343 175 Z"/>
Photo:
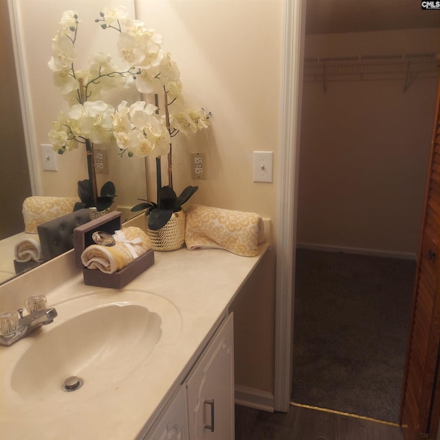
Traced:
<path fill-rule="evenodd" d="M 32 196 L 23 201 L 25 232 L 36 234 L 36 227 L 69 214 L 74 210 L 78 197 Z"/>

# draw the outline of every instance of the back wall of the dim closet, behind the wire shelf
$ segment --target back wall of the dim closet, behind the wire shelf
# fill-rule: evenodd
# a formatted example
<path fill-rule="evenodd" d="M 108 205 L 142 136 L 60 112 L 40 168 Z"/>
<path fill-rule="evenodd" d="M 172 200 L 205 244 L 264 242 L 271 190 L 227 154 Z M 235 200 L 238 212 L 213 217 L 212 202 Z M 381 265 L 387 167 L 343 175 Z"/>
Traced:
<path fill-rule="evenodd" d="M 307 35 L 306 57 L 440 52 L 440 30 Z M 305 83 L 298 242 L 416 254 L 437 78 Z"/>

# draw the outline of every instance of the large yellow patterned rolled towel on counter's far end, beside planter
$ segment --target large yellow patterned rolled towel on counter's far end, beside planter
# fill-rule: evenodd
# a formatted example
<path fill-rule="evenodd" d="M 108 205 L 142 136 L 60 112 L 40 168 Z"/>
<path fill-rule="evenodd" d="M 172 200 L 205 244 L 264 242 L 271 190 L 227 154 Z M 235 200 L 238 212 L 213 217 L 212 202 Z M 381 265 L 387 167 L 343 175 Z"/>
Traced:
<path fill-rule="evenodd" d="M 201 205 L 186 210 L 185 243 L 189 250 L 214 248 L 255 256 L 263 241 L 264 223 L 259 214 Z"/>

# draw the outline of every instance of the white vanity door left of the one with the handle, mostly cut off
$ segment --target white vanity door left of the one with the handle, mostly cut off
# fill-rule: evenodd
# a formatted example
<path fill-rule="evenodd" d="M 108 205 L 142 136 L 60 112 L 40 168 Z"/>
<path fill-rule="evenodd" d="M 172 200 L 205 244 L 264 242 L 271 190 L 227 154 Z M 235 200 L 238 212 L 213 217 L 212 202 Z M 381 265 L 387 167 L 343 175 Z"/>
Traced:
<path fill-rule="evenodd" d="M 188 440 L 185 386 L 179 386 L 144 440 Z"/>

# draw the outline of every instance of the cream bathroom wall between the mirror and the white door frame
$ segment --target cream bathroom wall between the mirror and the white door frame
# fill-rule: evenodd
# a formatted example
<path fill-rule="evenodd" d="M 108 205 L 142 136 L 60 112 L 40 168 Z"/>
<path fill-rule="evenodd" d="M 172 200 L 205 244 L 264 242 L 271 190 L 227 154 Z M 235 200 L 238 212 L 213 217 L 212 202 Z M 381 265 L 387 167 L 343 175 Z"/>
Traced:
<path fill-rule="evenodd" d="M 137 17 L 164 36 L 188 102 L 212 111 L 209 131 L 175 137 L 175 189 L 197 184 L 194 202 L 258 212 L 276 224 L 281 0 L 136 0 Z M 190 151 L 208 178 L 190 177 Z M 252 181 L 252 152 L 274 151 L 274 183 Z M 275 245 L 243 286 L 236 315 L 236 384 L 272 393 Z M 228 276 L 228 274 L 225 274 Z"/>

